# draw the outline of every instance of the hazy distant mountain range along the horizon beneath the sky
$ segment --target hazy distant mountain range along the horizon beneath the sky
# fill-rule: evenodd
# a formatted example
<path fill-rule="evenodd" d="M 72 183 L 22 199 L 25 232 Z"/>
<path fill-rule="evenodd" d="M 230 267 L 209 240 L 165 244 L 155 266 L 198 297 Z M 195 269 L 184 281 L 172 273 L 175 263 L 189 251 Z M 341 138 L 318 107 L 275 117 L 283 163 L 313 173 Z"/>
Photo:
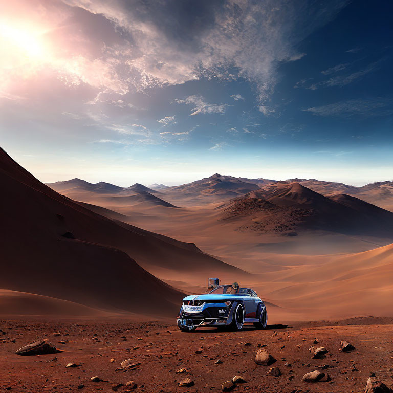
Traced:
<path fill-rule="evenodd" d="M 341 193 L 356 196 L 363 201 L 375 204 L 387 210 L 393 210 L 393 181 L 370 183 L 362 187 L 346 185 L 344 183 L 328 182 L 317 179 L 287 179 L 277 182 L 276 180 L 256 178 L 235 178 L 233 176 L 215 173 L 208 178 L 196 180 L 180 186 L 165 186 L 163 184 L 152 184 L 146 187 L 136 183 L 130 187 L 119 187 L 110 183 L 99 182 L 88 183 L 80 179 L 72 179 L 64 182 L 48 184 L 54 190 L 77 199 L 78 191 L 89 191 L 100 194 L 122 194 L 147 192 L 154 194 L 162 200 L 163 206 L 180 205 L 192 206 L 201 203 L 215 203 L 226 199 L 235 198 L 248 192 L 264 188 L 271 184 L 299 183 L 315 192 L 330 197 Z M 155 201 L 145 194 L 146 202 Z"/>

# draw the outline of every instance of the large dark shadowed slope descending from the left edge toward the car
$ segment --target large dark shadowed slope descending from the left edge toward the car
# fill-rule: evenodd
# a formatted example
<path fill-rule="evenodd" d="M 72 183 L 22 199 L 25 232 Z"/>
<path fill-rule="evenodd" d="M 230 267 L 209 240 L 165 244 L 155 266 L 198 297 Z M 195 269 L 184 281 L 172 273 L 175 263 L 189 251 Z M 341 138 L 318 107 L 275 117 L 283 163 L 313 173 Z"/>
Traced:
<path fill-rule="evenodd" d="M 168 276 L 173 269 L 241 272 L 192 244 L 107 219 L 63 197 L 2 149 L 0 164 L 6 190 L 0 196 L 0 288 L 99 309 L 174 315 L 182 293 L 140 265 Z"/>

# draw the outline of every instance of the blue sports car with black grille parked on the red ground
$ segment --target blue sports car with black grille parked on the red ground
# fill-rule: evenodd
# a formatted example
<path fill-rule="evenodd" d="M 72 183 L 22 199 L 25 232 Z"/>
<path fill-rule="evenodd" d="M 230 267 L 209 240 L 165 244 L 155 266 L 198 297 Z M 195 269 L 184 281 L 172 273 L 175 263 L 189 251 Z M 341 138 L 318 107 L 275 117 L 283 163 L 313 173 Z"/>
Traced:
<path fill-rule="evenodd" d="M 198 326 L 241 330 L 247 322 L 259 329 L 266 328 L 266 306 L 252 289 L 241 288 L 237 282 L 232 285 L 218 283 L 218 279 L 210 278 L 210 292 L 183 299 L 177 321 L 180 330 L 190 332 Z"/>

